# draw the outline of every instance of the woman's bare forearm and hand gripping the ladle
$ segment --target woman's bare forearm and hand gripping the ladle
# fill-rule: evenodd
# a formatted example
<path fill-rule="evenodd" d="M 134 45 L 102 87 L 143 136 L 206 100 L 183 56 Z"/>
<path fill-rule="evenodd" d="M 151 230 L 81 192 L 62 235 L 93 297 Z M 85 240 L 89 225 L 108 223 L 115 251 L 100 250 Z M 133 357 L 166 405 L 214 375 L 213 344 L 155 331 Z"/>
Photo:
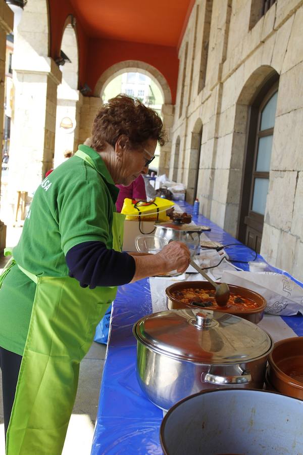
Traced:
<path fill-rule="evenodd" d="M 130 255 L 132 256 L 133 253 Z M 136 271 L 131 283 L 156 275 L 168 275 L 176 269 L 179 273 L 183 273 L 190 262 L 190 252 L 187 246 L 175 241 L 166 245 L 160 253 L 133 257 Z"/>

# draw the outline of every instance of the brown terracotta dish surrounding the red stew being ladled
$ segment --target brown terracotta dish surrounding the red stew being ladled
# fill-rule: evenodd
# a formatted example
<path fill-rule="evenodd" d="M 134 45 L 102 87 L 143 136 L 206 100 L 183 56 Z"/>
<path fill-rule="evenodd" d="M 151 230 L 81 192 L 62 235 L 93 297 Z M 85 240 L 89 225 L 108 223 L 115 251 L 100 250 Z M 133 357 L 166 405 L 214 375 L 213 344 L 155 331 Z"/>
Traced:
<path fill-rule="evenodd" d="M 218 283 L 219 284 L 219 283 Z M 258 294 L 257 292 L 250 291 L 249 289 L 241 288 L 240 286 L 228 285 L 230 291 L 233 294 L 237 294 L 240 297 L 248 298 L 254 300 L 254 302 L 258 303 L 258 308 L 252 308 L 245 311 L 241 310 L 231 310 L 228 307 L 218 306 L 214 308 L 216 311 L 221 311 L 223 313 L 228 314 L 235 314 L 236 316 L 243 317 L 247 321 L 250 321 L 254 324 L 258 324 L 264 314 L 264 310 L 266 308 L 267 302 L 262 295 Z M 205 289 L 205 290 L 212 290 L 214 289 L 213 286 L 207 281 L 183 281 L 181 283 L 175 283 L 168 288 L 166 288 L 166 305 L 168 309 L 180 309 L 180 308 L 201 308 L 198 305 L 191 304 L 191 303 L 183 303 L 180 300 L 177 300 L 173 297 L 172 293 L 175 291 L 179 291 L 185 288 L 193 288 L 193 289 Z M 207 307 L 206 309 L 211 310 L 211 307 Z"/>

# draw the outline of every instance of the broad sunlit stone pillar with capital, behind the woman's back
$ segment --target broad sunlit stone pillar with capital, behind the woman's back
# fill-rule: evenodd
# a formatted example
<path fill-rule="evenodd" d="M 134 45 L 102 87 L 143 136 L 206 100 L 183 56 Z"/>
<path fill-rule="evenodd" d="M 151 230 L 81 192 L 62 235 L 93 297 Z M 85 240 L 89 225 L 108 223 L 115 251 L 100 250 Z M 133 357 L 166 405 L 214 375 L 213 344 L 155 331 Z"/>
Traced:
<path fill-rule="evenodd" d="M 15 210 L 17 191 L 32 195 L 53 167 L 57 86 L 62 74 L 51 58 L 42 56 L 28 63 L 14 57 L 13 69 L 9 202 Z"/>

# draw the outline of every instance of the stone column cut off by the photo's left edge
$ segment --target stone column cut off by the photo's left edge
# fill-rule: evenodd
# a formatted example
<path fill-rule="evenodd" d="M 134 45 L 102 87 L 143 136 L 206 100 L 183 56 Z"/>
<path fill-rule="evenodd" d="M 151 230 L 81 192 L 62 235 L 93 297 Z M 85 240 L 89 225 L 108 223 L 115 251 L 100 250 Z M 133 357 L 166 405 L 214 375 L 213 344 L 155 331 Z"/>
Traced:
<path fill-rule="evenodd" d="M 6 37 L 11 33 L 14 25 L 14 14 L 4 0 L 0 0 L 0 144 L 2 161 L 2 139 L 3 139 L 3 118 L 4 118 L 4 90 L 5 90 L 5 58 L 6 58 Z M 1 168 L 0 168 L 1 185 Z M 0 220 L 0 253 L 6 245 L 6 225 Z"/>

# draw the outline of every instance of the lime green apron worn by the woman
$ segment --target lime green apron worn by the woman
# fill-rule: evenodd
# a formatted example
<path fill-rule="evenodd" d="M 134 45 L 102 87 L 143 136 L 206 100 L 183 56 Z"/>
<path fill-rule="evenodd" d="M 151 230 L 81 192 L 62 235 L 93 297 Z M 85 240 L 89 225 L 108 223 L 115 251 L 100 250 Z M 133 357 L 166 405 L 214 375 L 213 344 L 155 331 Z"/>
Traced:
<path fill-rule="evenodd" d="M 84 152 L 76 155 L 95 168 Z M 124 218 L 114 213 L 117 251 L 122 249 Z M 74 278 L 36 277 L 18 266 L 36 283 L 36 292 L 7 432 L 7 455 L 59 455 L 76 397 L 80 360 L 117 288 L 81 288 Z"/>

